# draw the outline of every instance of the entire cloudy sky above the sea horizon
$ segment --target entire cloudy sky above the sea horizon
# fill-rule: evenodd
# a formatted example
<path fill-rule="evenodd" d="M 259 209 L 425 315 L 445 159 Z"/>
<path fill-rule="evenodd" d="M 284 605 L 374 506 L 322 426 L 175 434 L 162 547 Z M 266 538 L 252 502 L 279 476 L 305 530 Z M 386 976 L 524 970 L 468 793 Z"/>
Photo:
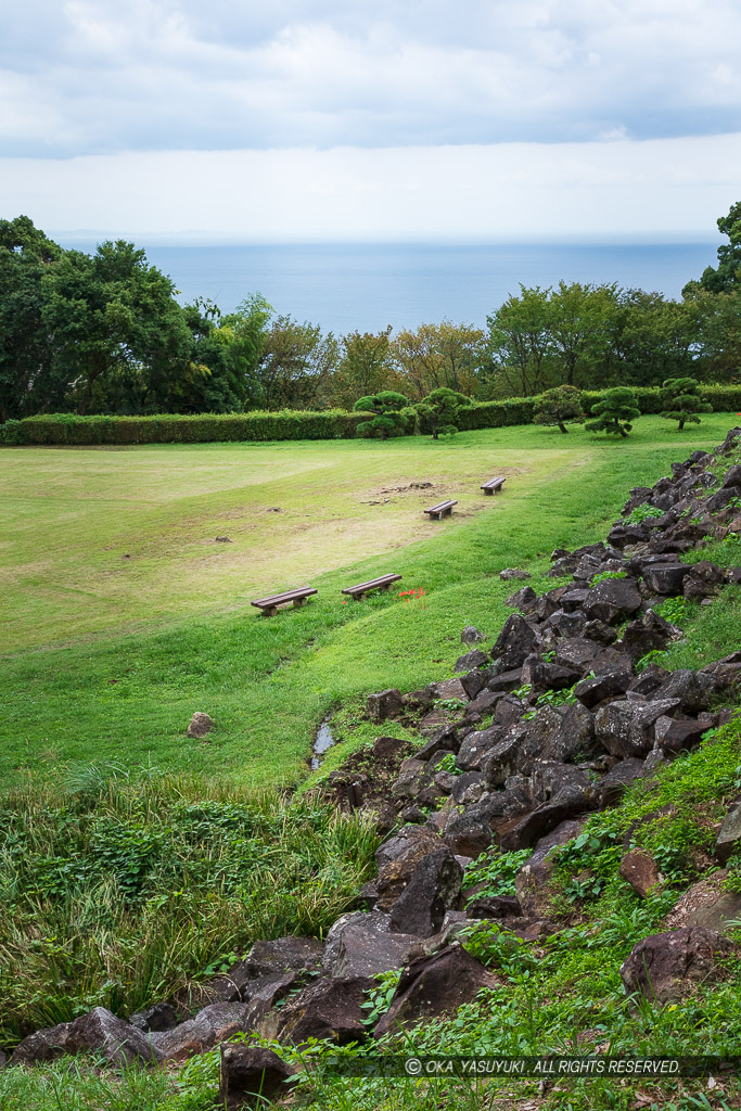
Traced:
<path fill-rule="evenodd" d="M 0 3 L 0 217 L 49 231 L 712 239 L 741 193 L 738 0 Z"/>

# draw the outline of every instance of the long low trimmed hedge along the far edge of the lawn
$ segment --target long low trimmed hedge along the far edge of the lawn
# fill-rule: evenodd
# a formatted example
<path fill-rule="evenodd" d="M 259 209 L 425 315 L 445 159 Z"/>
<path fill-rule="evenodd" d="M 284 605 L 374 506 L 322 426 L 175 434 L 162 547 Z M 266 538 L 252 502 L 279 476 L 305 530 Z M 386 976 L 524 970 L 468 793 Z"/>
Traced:
<path fill-rule="evenodd" d="M 589 412 L 602 390 L 583 390 L 581 400 Z M 642 413 L 660 413 L 657 388 L 633 390 Z M 705 386 L 703 392 L 713 412 L 741 412 L 741 386 Z M 507 401 L 473 402 L 461 409 L 458 428 L 471 432 L 480 428 L 505 428 L 531 424 L 535 398 L 509 398 Z M 410 416 L 415 411 L 404 409 Z M 201 413 L 182 417 L 78 417 L 50 413 L 27 417 L 0 424 L 0 443 L 6 444 L 133 444 L 133 443 L 211 443 L 219 441 L 270 440 L 351 440 L 368 413 L 328 409 L 323 412 L 282 410 L 281 412 Z M 424 418 L 410 420 L 409 432 L 428 436 Z"/>

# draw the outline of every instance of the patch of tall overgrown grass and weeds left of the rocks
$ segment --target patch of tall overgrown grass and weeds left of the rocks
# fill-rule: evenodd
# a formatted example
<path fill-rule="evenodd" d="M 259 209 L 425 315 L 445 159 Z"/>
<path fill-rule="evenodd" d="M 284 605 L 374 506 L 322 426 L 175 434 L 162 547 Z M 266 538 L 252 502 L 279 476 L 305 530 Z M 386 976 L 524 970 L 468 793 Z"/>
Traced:
<path fill-rule="evenodd" d="M 103 1005 L 128 1015 L 257 939 L 321 935 L 377 837 L 316 798 L 74 769 L 0 799 L 0 1044 Z"/>

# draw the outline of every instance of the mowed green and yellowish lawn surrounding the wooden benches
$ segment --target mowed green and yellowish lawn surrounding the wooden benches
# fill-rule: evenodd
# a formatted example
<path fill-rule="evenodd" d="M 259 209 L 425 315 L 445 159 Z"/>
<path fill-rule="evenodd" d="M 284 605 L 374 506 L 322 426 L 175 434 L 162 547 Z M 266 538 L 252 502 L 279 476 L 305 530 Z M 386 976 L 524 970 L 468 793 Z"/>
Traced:
<path fill-rule="evenodd" d="M 603 538 L 631 486 L 734 423 L 2 450 L 0 781 L 116 760 L 296 783 L 332 709 L 450 674 L 468 621 L 495 634 L 502 568 L 538 588 L 553 547 Z M 497 473 L 505 492 L 484 498 Z M 444 497 L 454 516 L 429 521 Z M 387 571 L 424 600 L 343 604 L 341 587 Z M 320 591 L 303 610 L 249 604 L 303 582 Z M 186 738 L 196 710 L 217 722 L 206 742 Z"/>

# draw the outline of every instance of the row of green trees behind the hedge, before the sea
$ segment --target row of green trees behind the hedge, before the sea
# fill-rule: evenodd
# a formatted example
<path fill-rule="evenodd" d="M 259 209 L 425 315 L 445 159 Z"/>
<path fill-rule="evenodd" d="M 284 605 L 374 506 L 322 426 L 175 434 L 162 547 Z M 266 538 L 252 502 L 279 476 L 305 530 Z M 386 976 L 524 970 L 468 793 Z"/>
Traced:
<path fill-rule="evenodd" d="M 681 300 L 617 284 L 520 287 L 487 328 L 442 321 L 332 332 L 260 294 L 230 313 L 180 306 L 172 280 L 118 240 L 66 250 L 28 217 L 0 221 L 0 422 L 41 412 L 146 414 L 352 409 L 384 391 L 421 402 L 561 386 L 741 378 L 741 202 L 729 239 Z M 383 416 L 383 414 L 379 414 Z"/>

